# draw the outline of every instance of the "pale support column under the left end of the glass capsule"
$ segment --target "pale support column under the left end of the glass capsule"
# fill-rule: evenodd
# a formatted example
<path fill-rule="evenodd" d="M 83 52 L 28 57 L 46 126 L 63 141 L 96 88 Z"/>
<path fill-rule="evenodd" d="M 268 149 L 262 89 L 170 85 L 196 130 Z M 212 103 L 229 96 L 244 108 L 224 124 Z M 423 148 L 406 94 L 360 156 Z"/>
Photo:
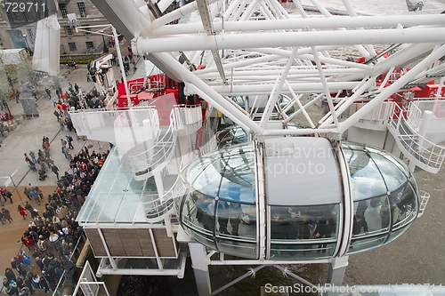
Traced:
<path fill-rule="evenodd" d="M 210 276 L 208 274 L 208 260 L 206 247 L 198 243 L 189 243 L 191 266 L 195 274 L 195 281 L 199 296 L 211 296 L 212 287 L 210 285 Z"/>

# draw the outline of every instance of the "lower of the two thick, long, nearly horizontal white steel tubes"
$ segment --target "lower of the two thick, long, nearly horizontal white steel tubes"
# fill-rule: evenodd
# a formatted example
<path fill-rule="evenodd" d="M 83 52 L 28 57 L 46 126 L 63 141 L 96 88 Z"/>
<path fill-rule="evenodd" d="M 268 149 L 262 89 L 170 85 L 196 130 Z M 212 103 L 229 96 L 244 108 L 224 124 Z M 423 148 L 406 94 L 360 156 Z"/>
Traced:
<path fill-rule="evenodd" d="M 284 32 L 224 36 L 142 38 L 137 53 L 353 44 L 422 44 L 445 41 L 443 28 L 370 29 L 364 31 Z"/>

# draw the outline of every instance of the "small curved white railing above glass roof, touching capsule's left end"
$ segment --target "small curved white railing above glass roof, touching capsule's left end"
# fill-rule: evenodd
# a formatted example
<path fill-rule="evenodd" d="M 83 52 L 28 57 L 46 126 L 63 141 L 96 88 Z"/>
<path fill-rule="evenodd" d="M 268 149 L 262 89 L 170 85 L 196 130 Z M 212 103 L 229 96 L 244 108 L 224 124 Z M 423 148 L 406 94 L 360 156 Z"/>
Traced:
<path fill-rule="evenodd" d="M 145 217 L 150 222 L 162 220 L 174 209 L 174 198 L 185 195 L 187 188 L 182 185 L 181 178 L 178 177 L 164 196 L 146 195 L 142 196 L 142 205 Z"/>

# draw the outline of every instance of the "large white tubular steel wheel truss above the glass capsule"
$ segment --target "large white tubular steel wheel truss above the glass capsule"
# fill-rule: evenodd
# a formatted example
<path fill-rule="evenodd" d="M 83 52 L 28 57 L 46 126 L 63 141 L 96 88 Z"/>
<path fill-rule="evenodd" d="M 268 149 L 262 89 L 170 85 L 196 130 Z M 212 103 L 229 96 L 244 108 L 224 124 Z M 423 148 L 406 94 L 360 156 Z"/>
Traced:
<path fill-rule="evenodd" d="M 166 12 L 174 1 L 161 0 L 153 1 L 162 13 L 156 18 L 145 1 L 111 2 L 107 0 L 110 6 L 120 5 L 121 11 L 115 12 L 134 32 L 135 53 L 155 57 L 186 84 L 187 92 L 198 93 L 257 135 L 339 136 L 393 92 L 425 77 L 425 71 L 443 68 L 444 14 L 358 16 L 349 0 L 343 1 L 349 16 L 342 17 L 333 16 L 317 0 L 311 0 L 320 11 L 317 15 L 306 13 L 296 0 L 287 10 L 276 0 L 197 0 Z M 180 55 L 205 68 L 181 64 Z M 348 57 L 364 57 L 366 62 Z M 408 66 L 412 68 L 389 87 L 376 86 L 377 76 Z M 337 97 L 339 92 L 349 96 Z M 267 129 L 279 94 L 292 98 L 292 106 L 279 108 L 280 119 L 287 123 L 301 114 L 301 124 L 310 128 Z M 239 95 L 270 96 L 260 121 L 233 103 L 231 97 Z M 344 119 L 344 111 L 364 97 L 367 106 Z M 320 100 L 328 102 L 329 110 L 321 119 L 308 112 Z"/>

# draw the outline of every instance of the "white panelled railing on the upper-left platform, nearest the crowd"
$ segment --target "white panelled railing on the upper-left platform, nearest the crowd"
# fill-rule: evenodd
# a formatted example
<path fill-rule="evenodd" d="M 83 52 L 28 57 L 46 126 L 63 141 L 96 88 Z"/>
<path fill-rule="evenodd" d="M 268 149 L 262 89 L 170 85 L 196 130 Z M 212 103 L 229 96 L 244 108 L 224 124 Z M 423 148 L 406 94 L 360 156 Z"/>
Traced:
<path fill-rule="evenodd" d="M 69 112 L 71 121 L 78 133 L 93 130 L 143 126 L 143 120 L 149 119 L 153 130 L 158 131 L 158 111 L 151 106 L 131 109 L 80 109 Z"/>

